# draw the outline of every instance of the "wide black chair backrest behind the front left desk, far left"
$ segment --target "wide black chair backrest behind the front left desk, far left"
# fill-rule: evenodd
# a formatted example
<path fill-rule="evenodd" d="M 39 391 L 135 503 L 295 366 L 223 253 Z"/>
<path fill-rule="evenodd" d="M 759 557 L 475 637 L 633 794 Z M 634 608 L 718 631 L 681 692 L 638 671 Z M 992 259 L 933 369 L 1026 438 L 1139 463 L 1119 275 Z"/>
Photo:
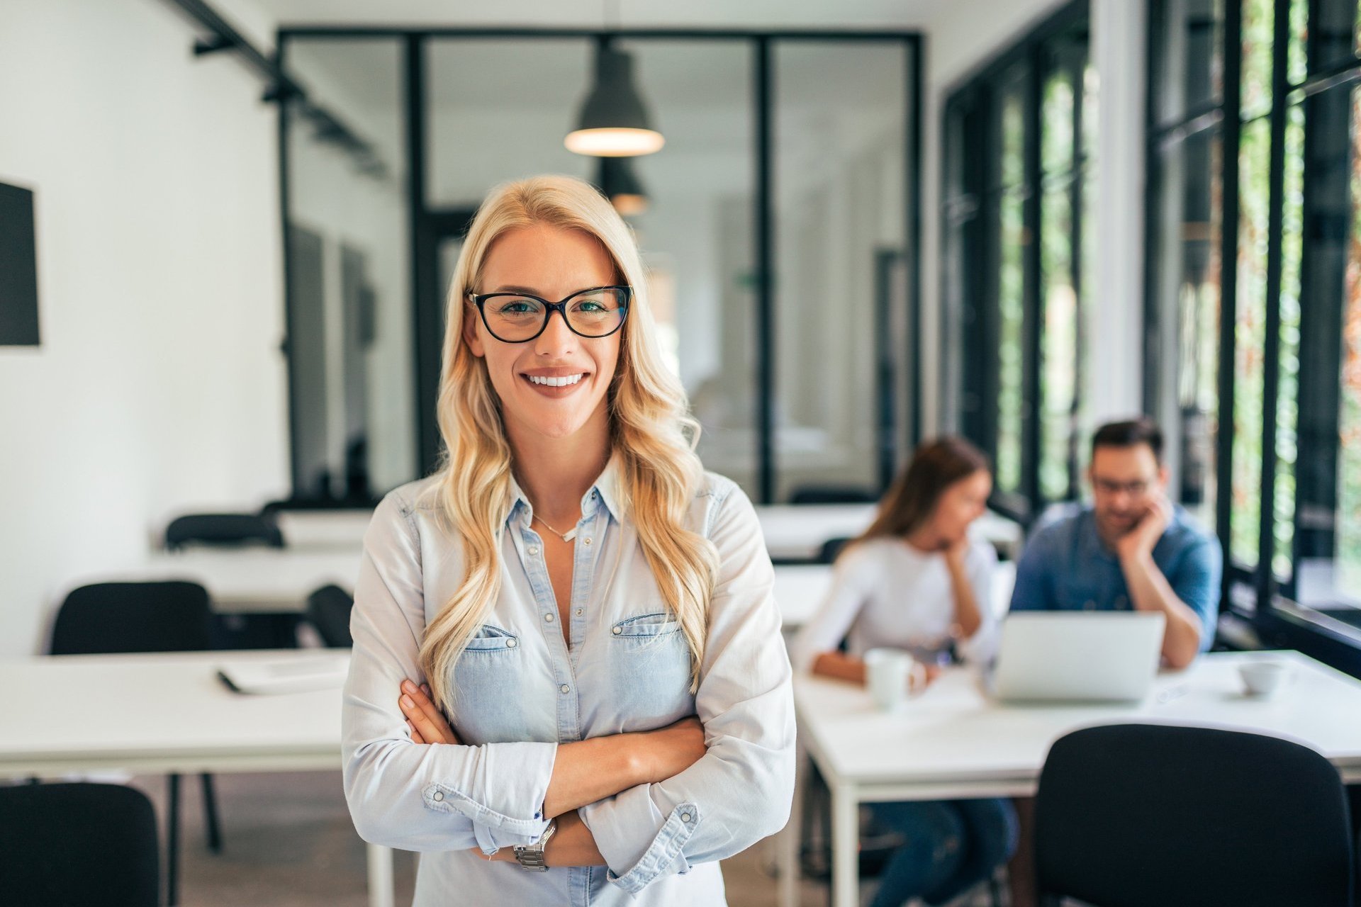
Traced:
<path fill-rule="evenodd" d="M 208 592 L 196 582 L 102 582 L 61 602 L 49 651 L 203 651 L 208 623 Z"/>

